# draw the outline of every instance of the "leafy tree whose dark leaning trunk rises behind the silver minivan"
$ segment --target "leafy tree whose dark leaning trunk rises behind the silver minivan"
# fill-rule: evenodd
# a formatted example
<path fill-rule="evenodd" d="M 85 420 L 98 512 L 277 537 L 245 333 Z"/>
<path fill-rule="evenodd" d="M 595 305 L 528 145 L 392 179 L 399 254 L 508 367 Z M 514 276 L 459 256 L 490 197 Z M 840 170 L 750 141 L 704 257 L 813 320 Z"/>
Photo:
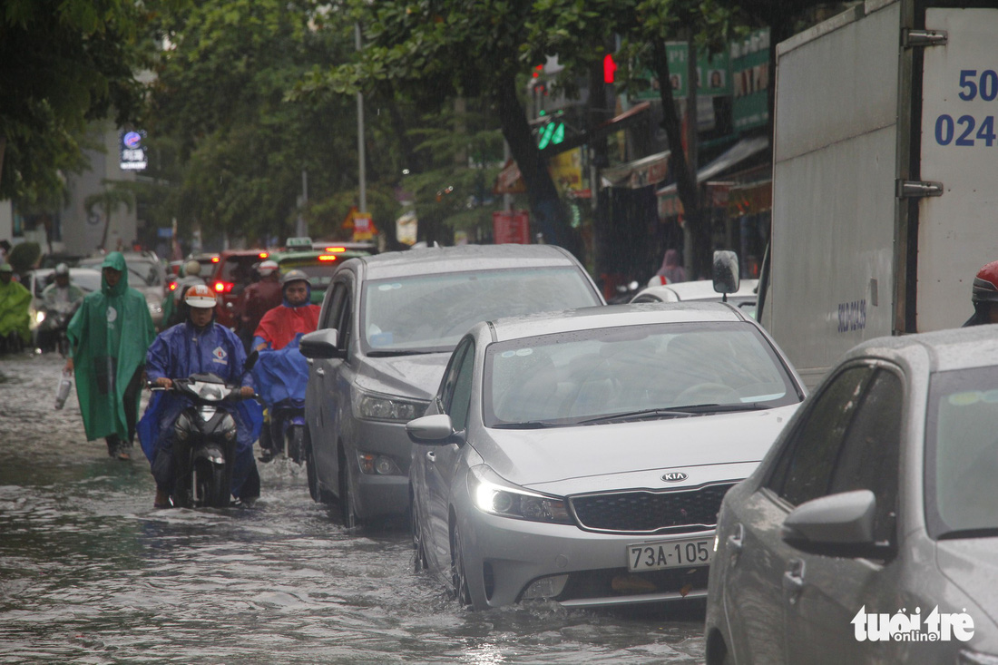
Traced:
<path fill-rule="evenodd" d="M 390 81 L 413 97 L 482 97 L 496 109 L 527 186 L 537 228 L 547 242 L 576 250 L 575 234 L 537 148 L 520 101 L 534 64 L 521 56 L 533 2 L 474 0 L 350 0 L 366 43 L 357 62 L 318 72 L 305 91 L 370 90 Z"/>

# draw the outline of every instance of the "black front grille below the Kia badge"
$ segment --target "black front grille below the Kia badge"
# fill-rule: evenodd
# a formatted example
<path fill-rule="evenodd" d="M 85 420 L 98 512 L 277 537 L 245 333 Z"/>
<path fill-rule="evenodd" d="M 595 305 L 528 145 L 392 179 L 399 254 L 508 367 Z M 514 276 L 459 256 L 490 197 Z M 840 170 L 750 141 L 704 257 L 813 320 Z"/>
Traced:
<path fill-rule="evenodd" d="M 579 525 L 612 533 L 683 533 L 718 523 L 721 499 L 735 483 L 673 491 L 588 494 L 569 499 Z"/>

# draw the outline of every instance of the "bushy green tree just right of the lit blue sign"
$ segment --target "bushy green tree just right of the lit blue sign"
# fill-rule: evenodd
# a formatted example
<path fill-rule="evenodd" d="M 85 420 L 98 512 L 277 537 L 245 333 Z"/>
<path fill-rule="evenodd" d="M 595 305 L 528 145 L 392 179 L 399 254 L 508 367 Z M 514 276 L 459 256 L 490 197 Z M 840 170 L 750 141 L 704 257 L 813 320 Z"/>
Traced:
<path fill-rule="evenodd" d="M 159 28 L 171 48 L 156 69 L 150 145 L 166 138 L 177 149 L 176 165 L 157 169 L 177 188 L 182 230 L 285 236 L 302 170 L 310 206 L 356 190 L 352 98 L 287 99 L 313 67 L 353 51 L 341 12 L 318 0 L 206 0 L 164 15 Z M 375 178 L 387 170 L 383 152 L 371 158 Z"/>

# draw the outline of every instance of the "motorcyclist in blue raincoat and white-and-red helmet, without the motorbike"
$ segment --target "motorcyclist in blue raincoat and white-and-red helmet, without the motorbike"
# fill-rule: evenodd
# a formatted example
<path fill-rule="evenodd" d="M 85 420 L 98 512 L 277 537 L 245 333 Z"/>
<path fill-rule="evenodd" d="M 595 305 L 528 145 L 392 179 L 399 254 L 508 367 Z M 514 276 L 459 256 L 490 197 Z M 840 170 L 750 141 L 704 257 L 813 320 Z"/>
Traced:
<path fill-rule="evenodd" d="M 243 396 L 252 395 L 252 376 L 244 372 L 247 355 L 243 342 L 236 333 L 215 323 L 215 294 L 206 286 L 195 286 L 188 290 L 184 302 L 189 308 L 188 321 L 160 333 L 149 347 L 146 359 L 149 380 L 160 387 L 171 387 L 173 378 L 211 372 L 227 383 L 242 385 Z M 142 449 L 156 478 L 157 507 L 170 505 L 176 468 L 174 424 L 187 405 L 187 399 L 181 395 L 156 392 L 139 423 Z M 259 496 L 259 474 L 252 444 L 263 421 L 262 409 L 250 399 L 223 407 L 233 412 L 238 428 L 232 493 L 249 502 Z"/>

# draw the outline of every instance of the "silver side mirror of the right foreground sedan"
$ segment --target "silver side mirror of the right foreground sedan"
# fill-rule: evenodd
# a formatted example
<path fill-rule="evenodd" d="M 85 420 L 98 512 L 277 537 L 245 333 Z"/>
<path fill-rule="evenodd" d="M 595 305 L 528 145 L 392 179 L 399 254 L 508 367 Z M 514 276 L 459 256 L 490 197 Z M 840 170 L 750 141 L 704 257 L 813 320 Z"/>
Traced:
<path fill-rule="evenodd" d="M 857 489 L 801 503 L 783 520 L 787 544 L 813 554 L 863 556 L 875 549 L 876 496 Z"/>

